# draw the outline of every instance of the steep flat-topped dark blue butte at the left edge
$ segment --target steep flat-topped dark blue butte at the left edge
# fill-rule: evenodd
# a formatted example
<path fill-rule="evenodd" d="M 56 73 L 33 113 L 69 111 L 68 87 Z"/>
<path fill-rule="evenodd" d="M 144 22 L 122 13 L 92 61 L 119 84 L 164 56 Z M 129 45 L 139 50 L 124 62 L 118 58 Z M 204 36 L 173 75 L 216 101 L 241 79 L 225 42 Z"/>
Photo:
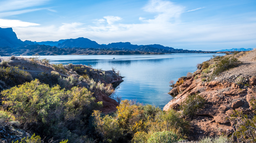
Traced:
<path fill-rule="evenodd" d="M 20 47 L 25 45 L 28 44 L 18 39 L 12 28 L 0 27 L 0 47 Z"/>

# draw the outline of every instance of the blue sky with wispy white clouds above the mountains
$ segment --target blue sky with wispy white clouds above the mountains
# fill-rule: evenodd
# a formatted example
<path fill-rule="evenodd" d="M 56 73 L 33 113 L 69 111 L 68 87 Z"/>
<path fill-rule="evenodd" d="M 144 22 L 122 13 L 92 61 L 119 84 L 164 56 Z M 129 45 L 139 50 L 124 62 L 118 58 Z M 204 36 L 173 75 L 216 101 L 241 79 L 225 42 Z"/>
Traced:
<path fill-rule="evenodd" d="M 256 48 L 256 0 L 0 0 L 0 27 L 23 41 L 247 49 Z"/>

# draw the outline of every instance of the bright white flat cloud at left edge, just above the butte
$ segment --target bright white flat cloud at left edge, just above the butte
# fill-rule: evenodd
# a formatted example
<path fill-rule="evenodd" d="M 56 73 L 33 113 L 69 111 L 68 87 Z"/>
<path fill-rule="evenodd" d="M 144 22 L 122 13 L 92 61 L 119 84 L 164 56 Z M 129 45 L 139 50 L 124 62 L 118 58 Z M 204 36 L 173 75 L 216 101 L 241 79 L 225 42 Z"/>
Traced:
<path fill-rule="evenodd" d="M 40 24 L 23 22 L 20 20 L 9 20 L 9 19 L 0 19 L 0 27 L 27 27 L 27 26 L 37 26 Z"/>

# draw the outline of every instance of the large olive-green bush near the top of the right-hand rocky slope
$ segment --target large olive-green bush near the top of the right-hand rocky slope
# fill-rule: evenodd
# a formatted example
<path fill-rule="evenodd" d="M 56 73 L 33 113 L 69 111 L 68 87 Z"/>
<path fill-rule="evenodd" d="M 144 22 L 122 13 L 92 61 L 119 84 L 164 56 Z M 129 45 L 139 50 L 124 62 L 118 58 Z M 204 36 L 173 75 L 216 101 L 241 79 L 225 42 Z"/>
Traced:
<path fill-rule="evenodd" d="M 242 62 L 234 56 L 224 57 L 216 64 L 213 75 L 219 75 L 223 71 L 234 68 L 241 63 Z"/>

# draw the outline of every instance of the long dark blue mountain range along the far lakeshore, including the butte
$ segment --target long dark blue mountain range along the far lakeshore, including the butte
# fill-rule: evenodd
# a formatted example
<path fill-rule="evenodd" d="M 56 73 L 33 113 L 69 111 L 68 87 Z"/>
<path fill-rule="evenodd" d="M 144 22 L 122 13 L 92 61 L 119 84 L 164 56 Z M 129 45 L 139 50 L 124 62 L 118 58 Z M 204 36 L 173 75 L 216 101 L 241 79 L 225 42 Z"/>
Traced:
<path fill-rule="evenodd" d="M 133 45 L 130 42 L 98 44 L 87 38 L 65 39 L 58 41 L 22 41 L 12 28 L 0 28 L 0 56 L 39 55 L 99 55 L 99 54 L 170 54 L 170 53 L 216 53 L 174 49 L 159 44 Z"/>

